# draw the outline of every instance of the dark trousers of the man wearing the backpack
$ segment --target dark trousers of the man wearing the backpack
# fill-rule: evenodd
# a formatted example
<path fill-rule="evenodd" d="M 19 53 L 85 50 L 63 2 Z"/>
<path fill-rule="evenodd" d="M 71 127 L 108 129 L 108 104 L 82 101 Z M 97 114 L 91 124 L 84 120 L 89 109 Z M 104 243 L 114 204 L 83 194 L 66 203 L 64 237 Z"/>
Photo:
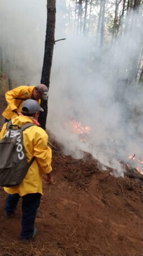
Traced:
<path fill-rule="evenodd" d="M 30 193 L 22 196 L 22 220 L 20 239 L 32 238 L 34 232 L 34 221 L 36 218 L 37 209 L 40 205 L 41 194 Z M 19 194 L 8 195 L 5 202 L 5 211 L 8 215 L 14 213 L 18 201 Z"/>

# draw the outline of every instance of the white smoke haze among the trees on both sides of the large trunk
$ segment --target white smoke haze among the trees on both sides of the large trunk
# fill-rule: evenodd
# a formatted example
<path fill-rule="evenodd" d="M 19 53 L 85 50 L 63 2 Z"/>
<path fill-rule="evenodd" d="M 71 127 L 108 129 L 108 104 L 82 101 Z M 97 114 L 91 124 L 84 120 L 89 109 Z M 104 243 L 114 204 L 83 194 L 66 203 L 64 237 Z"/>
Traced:
<path fill-rule="evenodd" d="M 7 5 L 6 5 L 7 3 Z M 7 58 L 18 67 L 15 79 L 38 84 L 41 79 L 46 30 L 46 1 L 2 1 L 2 42 Z M 11 22 L 12 20 L 12 22 Z M 90 36 L 76 35 L 70 29 L 66 1 L 57 1 L 55 40 L 50 80 L 47 128 L 64 145 L 64 152 L 75 158 L 90 152 L 102 164 L 118 170 L 118 160 L 142 158 L 142 87 L 136 84 L 143 21 L 141 12 L 123 20 L 121 36 L 102 47 L 95 31 Z M 73 21 L 72 21 L 73 22 Z M 13 24 L 13 25 L 12 25 Z M 126 28 L 126 29 L 124 29 Z M 10 47 L 15 54 L 11 55 Z M 12 72 L 11 72 L 12 73 Z M 13 75 L 13 74 L 12 74 Z M 73 122 L 90 131 L 79 134 Z"/>

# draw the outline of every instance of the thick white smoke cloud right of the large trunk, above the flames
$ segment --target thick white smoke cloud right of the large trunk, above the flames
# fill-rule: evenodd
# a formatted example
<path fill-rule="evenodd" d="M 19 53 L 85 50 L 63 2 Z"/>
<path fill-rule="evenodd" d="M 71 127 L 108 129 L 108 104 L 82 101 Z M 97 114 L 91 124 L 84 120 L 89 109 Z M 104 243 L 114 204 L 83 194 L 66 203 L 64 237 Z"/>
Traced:
<path fill-rule="evenodd" d="M 143 91 L 133 79 L 127 85 L 130 64 L 139 59 L 142 47 L 143 20 L 138 13 L 132 19 L 137 24 L 104 50 L 96 48 L 94 39 L 67 34 L 54 48 L 50 87 L 48 126 L 67 154 L 81 157 L 81 151 L 88 151 L 119 175 L 123 168 L 118 160 L 127 162 L 128 155 L 141 157 L 143 152 Z M 84 143 L 64 125 L 71 119 L 90 126 Z"/>

